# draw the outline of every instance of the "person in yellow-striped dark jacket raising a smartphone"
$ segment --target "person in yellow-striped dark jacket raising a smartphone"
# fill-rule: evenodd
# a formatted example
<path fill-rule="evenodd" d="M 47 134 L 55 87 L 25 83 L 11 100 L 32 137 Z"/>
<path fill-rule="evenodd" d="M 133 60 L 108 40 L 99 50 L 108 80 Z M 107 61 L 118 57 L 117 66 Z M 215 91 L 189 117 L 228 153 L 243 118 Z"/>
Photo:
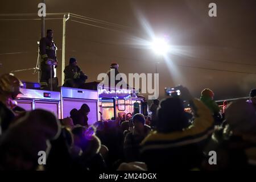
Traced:
<path fill-rule="evenodd" d="M 214 131 L 210 110 L 200 100 L 193 98 L 189 90 L 177 86 L 179 97 L 168 96 L 160 102 L 156 129 L 141 143 L 142 162 L 148 170 L 199 168 L 203 160 L 203 148 Z M 195 120 L 189 125 L 184 111 L 188 101 Z"/>

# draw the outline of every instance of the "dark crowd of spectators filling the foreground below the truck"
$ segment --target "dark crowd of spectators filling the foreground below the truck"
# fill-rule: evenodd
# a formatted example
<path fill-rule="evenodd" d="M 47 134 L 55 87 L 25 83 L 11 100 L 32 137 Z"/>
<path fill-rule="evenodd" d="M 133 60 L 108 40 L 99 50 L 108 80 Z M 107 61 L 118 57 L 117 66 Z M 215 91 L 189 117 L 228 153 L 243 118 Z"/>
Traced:
<path fill-rule="evenodd" d="M 64 119 L 47 110 L 17 109 L 21 85 L 14 75 L 0 77 L 0 170 L 256 168 L 256 89 L 249 100 L 233 101 L 220 113 L 212 90 L 197 99 L 180 86 L 181 96 L 155 100 L 150 116 L 129 113 L 89 126 L 86 104 Z M 46 152 L 44 164 L 39 151 Z M 209 151 L 216 152 L 216 164 L 209 163 Z"/>

